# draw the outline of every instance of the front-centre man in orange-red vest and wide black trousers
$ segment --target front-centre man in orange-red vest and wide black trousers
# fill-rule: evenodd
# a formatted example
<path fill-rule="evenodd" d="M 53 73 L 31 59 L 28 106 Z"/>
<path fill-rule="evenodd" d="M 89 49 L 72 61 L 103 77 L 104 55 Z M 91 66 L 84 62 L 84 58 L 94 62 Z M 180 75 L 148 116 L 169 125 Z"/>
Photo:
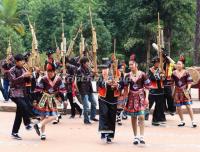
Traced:
<path fill-rule="evenodd" d="M 120 85 L 116 82 L 119 71 L 113 72 L 110 65 L 105 65 L 102 76 L 97 81 L 99 94 L 99 132 L 101 138 L 110 140 L 115 136 L 117 98 L 120 95 Z M 113 68 L 113 67 L 112 67 Z M 114 76 L 114 73 L 116 74 Z"/>

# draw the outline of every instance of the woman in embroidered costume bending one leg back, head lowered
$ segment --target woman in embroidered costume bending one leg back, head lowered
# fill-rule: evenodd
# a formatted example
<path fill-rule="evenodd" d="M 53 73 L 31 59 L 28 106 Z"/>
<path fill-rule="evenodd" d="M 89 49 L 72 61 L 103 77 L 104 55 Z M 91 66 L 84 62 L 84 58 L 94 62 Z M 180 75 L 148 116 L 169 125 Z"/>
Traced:
<path fill-rule="evenodd" d="M 41 122 L 34 125 L 36 133 L 45 140 L 45 126 L 57 118 L 57 103 L 64 98 L 65 86 L 62 79 L 56 76 L 55 66 L 51 63 L 46 65 L 47 75 L 42 77 L 35 89 L 36 94 L 41 97 L 38 104 L 34 106 L 34 112 L 41 116 Z"/>

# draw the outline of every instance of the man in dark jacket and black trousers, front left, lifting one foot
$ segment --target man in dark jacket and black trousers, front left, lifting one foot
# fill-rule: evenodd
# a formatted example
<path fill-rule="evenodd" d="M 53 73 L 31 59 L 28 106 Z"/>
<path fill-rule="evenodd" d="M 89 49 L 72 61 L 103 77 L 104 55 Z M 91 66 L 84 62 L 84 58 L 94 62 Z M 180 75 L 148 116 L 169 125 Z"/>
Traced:
<path fill-rule="evenodd" d="M 20 129 L 22 119 L 27 130 L 32 128 L 30 125 L 31 112 L 28 105 L 29 101 L 26 98 L 26 79 L 31 77 L 31 73 L 26 71 L 23 67 L 23 60 L 23 55 L 18 54 L 15 56 L 16 65 L 10 69 L 8 76 L 10 81 L 10 97 L 17 106 L 15 121 L 12 129 L 12 137 L 18 140 L 21 140 L 21 137 L 18 135 L 18 131 Z"/>

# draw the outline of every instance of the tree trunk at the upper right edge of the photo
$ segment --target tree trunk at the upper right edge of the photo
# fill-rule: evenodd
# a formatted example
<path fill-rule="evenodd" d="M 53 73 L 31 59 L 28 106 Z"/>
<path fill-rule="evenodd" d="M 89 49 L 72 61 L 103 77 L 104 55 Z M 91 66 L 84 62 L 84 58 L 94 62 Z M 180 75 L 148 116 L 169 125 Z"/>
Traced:
<path fill-rule="evenodd" d="M 200 65 L 200 0 L 197 0 L 196 11 L 196 32 L 195 32 L 195 44 L 194 44 L 194 65 Z"/>

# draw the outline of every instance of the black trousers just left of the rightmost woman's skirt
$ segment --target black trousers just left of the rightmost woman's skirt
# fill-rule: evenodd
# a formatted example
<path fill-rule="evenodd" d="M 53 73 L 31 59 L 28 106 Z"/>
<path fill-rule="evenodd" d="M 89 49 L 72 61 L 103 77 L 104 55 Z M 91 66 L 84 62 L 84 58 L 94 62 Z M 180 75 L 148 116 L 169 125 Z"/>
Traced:
<path fill-rule="evenodd" d="M 164 87 L 164 100 L 166 102 L 165 104 L 165 110 L 170 112 L 176 111 L 176 106 L 174 104 L 174 99 L 172 97 L 172 89 L 171 86 L 165 86 Z"/>

